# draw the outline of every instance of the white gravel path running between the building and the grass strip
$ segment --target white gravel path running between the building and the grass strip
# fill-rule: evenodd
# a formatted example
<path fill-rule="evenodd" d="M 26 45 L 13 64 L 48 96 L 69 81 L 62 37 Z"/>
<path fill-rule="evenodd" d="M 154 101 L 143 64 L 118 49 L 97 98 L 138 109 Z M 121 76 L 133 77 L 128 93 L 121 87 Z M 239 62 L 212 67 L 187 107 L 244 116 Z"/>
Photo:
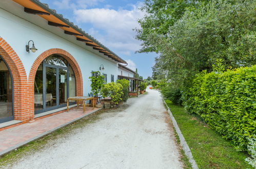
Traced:
<path fill-rule="evenodd" d="M 182 168 L 160 93 L 147 91 L 12 168 Z"/>

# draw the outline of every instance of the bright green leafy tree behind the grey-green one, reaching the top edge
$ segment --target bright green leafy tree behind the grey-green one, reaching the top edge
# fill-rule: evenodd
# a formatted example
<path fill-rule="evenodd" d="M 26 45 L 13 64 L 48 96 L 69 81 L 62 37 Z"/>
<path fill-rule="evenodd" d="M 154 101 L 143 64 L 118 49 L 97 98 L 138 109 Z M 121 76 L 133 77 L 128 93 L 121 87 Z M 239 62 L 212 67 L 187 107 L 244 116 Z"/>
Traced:
<path fill-rule="evenodd" d="M 181 19 L 186 10 L 196 8 L 201 1 L 145 0 L 141 10 L 147 14 L 138 20 L 141 29 L 135 29 L 136 39 L 143 41 L 142 49 L 138 52 L 160 52 L 148 35 L 157 34 L 168 37 L 169 27 Z"/>

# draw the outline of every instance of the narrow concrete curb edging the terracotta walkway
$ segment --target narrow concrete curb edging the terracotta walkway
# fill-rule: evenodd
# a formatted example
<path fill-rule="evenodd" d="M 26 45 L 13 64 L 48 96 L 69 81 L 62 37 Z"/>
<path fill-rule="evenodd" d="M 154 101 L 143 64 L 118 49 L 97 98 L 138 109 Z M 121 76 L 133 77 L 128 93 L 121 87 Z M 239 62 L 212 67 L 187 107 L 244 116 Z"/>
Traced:
<path fill-rule="evenodd" d="M 48 135 L 48 134 L 50 134 L 50 133 L 52 133 L 52 132 L 54 132 L 54 131 L 56 131 L 56 130 L 58 130 L 58 129 L 60 129 L 60 128 L 63 128 L 64 126 L 67 126 L 67 125 L 69 125 L 69 124 L 71 124 L 71 123 L 73 123 L 73 122 L 75 122 L 75 121 L 77 121 L 77 120 L 79 120 L 79 119 L 81 119 L 81 118 L 84 118 L 84 117 L 86 117 L 86 116 L 89 116 L 89 115 L 91 115 L 91 114 L 93 114 L 93 113 L 95 113 L 95 112 L 97 112 L 97 111 L 102 110 L 102 109 L 103 109 L 103 108 L 100 108 L 100 109 L 98 109 L 98 110 L 94 110 L 94 111 L 90 112 L 89 114 L 85 114 L 85 115 L 83 115 L 83 116 L 81 116 L 81 117 L 75 118 L 75 119 L 73 119 L 73 120 L 71 120 L 71 121 L 69 121 L 69 122 L 67 122 L 67 123 L 65 123 L 65 124 L 62 124 L 62 125 L 60 125 L 60 126 L 57 126 L 56 128 L 51 129 L 51 130 L 49 130 L 49 131 L 47 131 L 47 132 L 44 132 L 44 133 L 42 133 L 42 134 L 40 134 L 40 135 L 37 135 L 37 136 L 35 136 L 35 137 L 33 137 L 33 138 L 29 139 L 29 140 L 26 140 L 26 141 L 24 141 L 24 142 L 18 143 L 18 144 L 16 144 L 16 145 L 10 147 L 9 149 L 6 149 L 6 150 L 0 152 L 0 157 L 3 156 L 3 155 L 5 155 L 5 154 L 7 154 L 7 153 L 9 153 L 9 152 L 11 152 L 11 151 L 13 151 L 13 150 L 15 150 L 15 149 L 17 149 L 18 147 L 21 147 L 21 146 L 23 146 L 23 145 L 26 145 L 26 144 L 28 144 L 28 143 L 31 142 L 31 141 L 37 140 L 37 139 L 39 139 L 39 138 L 41 138 L 41 137 L 43 137 L 43 136 L 45 136 L 45 135 Z"/>

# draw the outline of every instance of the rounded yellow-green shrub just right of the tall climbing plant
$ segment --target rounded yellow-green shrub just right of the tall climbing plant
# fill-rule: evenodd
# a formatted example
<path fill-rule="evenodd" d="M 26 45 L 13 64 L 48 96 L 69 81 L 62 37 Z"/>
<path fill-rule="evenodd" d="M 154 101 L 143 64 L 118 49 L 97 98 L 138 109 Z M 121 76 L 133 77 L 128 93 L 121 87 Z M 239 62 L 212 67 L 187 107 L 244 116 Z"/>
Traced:
<path fill-rule="evenodd" d="M 123 86 L 116 82 L 107 83 L 103 85 L 101 94 L 103 97 L 111 97 L 112 101 L 117 104 L 122 100 Z"/>

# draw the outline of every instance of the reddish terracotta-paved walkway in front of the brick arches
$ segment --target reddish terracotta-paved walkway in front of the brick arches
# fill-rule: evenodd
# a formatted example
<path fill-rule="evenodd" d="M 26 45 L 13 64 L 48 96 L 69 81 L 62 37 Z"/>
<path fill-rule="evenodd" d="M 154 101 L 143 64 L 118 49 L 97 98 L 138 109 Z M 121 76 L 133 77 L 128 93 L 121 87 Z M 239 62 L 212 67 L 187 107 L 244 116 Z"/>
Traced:
<path fill-rule="evenodd" d="M 84 113 L 82 109 L 72 109 L 68 113 L 60 113 L 0 131 L 0 155 L 95 110 L 97 108 L 92 110 L 87 107 Z"/>

